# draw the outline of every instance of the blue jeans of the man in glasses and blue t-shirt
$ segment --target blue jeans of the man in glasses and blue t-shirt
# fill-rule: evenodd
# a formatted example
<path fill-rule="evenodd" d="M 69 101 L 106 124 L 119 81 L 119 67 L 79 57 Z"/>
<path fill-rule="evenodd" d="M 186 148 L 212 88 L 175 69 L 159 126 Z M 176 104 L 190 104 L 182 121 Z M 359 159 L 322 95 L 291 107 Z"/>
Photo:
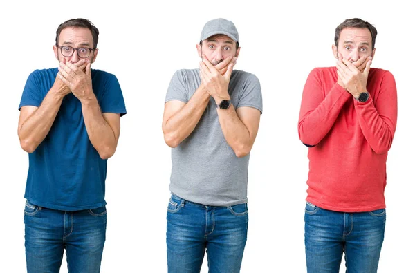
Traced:
<path fill-rule="evenodd" d="M 82 211 L 24 209 L 28 273 L 59 273 L 64 250 L 70 273 L 100 272 L 107 227 L 104 207 Z"/>

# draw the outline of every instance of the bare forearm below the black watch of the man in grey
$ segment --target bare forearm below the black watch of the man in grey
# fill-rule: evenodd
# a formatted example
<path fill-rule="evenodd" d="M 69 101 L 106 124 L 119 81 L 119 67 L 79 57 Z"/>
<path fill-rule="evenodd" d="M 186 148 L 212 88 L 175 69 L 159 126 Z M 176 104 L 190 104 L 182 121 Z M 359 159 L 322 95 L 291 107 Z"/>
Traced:
<path fill-rule="evenodd" d="M 233 104 L 229 109 L 218 109 L 219 123 L 226 142 L 238 158 L 248 155 L 254 144 L 248 128 L 241 122 Z"/>

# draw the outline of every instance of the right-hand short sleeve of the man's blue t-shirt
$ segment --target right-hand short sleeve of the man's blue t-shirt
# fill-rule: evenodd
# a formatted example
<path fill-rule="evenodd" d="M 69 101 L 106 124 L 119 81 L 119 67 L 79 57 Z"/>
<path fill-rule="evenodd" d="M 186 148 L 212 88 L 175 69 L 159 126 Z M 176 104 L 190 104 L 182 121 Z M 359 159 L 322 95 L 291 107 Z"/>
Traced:
<path fill-rule="evenodd" d="M 121 116 L 127 113 L 121 87 L 115 75 L 107 74 L 104 93 L 100 100 L 102 113 L 117 113 Z"/>

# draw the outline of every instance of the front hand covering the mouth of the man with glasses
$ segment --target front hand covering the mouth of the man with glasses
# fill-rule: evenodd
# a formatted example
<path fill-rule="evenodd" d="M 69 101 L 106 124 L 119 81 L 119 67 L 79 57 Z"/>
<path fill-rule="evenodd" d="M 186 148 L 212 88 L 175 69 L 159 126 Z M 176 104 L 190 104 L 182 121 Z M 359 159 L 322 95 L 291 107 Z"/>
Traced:
<path fill-rule="evenodd" d="M 91 79 L 91 61 L 80 59 L 75 64 L 59 63 L 59 77 L 71 89 L 79 100 L 85 100 L 93 93 Z M 85 71 L 84 71 L 85 70 Z"/>

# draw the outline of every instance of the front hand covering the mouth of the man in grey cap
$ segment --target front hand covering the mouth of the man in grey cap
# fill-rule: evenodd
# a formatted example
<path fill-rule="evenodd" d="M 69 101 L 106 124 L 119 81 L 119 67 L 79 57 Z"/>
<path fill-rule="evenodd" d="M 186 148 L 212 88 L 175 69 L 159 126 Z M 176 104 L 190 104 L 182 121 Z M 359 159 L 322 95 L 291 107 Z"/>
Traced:
<path fill-rule="evenodd" d="M 202 84 L 205 86 L 205 90 L 209 95 L 214 98 L 216 104 L 219 104 L 222 100 L 229 100 L 230 95 L 228 93 L 228 86 L 234 62 L 228 64 L 224 75 L 221 75 L 221 73 L 216 70 L 215 66 L 209 62 L 205 55 L 203 55 L 203 62 L 200 62 L 199 64 Z M 219 66 L 219 64 L 217 65 Z"/>

